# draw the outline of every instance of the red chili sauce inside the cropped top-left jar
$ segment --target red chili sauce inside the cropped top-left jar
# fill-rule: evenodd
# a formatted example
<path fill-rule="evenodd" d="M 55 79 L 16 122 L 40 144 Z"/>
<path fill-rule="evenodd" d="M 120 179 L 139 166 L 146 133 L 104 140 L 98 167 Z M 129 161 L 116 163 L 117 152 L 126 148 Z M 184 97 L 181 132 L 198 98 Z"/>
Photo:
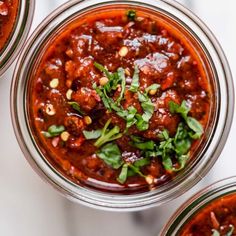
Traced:
<path fill-rule="evenodd" d="M 18 12 L 18 0 L 0 1 L 0 51 L 12 33 Z"/>

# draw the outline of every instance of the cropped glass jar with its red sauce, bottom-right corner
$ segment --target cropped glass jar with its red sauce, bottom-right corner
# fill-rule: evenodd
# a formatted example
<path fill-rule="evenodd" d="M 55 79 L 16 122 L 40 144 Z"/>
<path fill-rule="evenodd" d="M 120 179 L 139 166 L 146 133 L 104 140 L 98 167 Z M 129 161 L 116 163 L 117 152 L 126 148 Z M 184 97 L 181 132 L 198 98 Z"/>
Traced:
<path fill-rule="evenodd" d="M 235 223 L 236 177 L 230 177 L 191 197 L 171 217 L 161 236 L 230 236 L 235 235 Z"/>

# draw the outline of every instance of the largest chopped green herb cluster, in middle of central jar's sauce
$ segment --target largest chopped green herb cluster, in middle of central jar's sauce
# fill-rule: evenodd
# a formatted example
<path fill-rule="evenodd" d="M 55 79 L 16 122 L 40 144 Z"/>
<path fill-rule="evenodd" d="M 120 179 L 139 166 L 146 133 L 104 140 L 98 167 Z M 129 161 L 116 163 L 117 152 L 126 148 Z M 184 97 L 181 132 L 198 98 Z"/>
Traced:
<path fill-rule="evenodd" d="M 122 117 L 126 120 L 126 128 L 130 128 L 132 125 L 136 124 L 137 128 L 140 131 L 147 130 L 149 127 L 149 120 L 151 119 L 154 113 L 154 104 L 148 96 L 148 92 L 153 89 L 158 89 L 160 87 L 159 84 L 153 84 L 149 86 L 144 92 L 140 92 L 139 88 L 139 69 L 138 66 L 134 67 L 134 75 L 132 84 L 130 87 L 130 91 L 137 92 L 139 101 L 143 108 L 144 114 L 137 114 L 137 110 L 135 107 L 131 106 L 127 110 L 125 110 L 121 101 L 124 98 L 125 88 L 126 88 L 126 78 L 125 72 L 123 68 L 119 68 L 117 72 L 111 73 L 104 66 L 95 62 L 94 66 L 103 72 L 108 78 L 109 82 L 105 86 L 97 86 L 93 85 L 93 88 L 96 90 L 97 94 L 101 97 L 104 106 L 109 110 L 114 110 L 118 116 Z M 118 84 L 121 86 L 121 92 L 116 101 L 114 101 L 111 97 L 109 97 L 112 90 L 116 90 Z"/>

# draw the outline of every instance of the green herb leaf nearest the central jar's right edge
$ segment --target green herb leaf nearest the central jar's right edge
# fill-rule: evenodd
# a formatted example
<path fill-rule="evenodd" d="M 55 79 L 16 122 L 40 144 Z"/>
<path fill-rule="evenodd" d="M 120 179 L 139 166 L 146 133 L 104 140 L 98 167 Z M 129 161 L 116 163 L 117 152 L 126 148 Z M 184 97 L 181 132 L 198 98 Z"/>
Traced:
<path fill-rule="evenodd" d="M 189 133 L 192 139 L 199 139 L 202 136 L 203 127 L 195 118 L 188 116 L 190 109 L 185 100 L 181 103 L 181 105 L 171 101 L 169 102 L 169 107 L 171 113 L 180 114 L 185 120 L 186 124 L 192 131 Z"/>

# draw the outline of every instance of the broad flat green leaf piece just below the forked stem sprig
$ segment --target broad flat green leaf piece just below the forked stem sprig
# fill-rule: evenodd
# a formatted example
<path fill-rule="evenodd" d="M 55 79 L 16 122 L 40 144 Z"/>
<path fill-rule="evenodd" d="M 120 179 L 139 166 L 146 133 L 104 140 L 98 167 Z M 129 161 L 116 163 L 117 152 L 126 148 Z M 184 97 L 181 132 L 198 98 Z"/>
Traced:
<path fill-rule="evenodd" d="M 120 149 L 115 143 L 108 143 L 104 145 L 97 152 L 97 155 L 107 165 L 110 165 L 114 169 L 119 169 L 123 164 Z"/>

